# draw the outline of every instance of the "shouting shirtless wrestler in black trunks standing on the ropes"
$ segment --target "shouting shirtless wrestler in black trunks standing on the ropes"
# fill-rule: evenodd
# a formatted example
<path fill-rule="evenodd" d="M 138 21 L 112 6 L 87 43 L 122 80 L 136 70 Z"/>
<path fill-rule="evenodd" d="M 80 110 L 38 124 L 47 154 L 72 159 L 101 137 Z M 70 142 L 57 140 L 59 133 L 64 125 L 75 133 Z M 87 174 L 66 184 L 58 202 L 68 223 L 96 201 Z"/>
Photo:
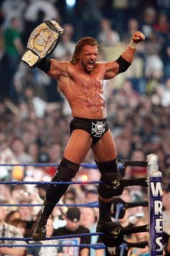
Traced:
<path fill-rule="evenodd" d="M 107 63 L 97 62 L 97 40 L 85 37 L 76 44 L 70 62 L 45 57 L 37 64 L 49 77 L 58 80 L 58 87 L 65 95 L 73 116 L 70 124 L 71 137 L 52 182 L 70 182 L 90 148 L 102 174 L 101 180 L 112 182 L 112 174 L 119 173 L 115 141 L 107 124 L 103 80 L 110 80 L 130 67 L 136 46 L 144 38 L 143 33 L 136 31 L 122 55 Z M 67 188 L 67 184 L 50 184 L 33 239 L 45 237 L 48 217 Z M 111 197 L 121 195 L 122 189 L 118 189 L 116 193 L 114 191 L 109 184 L 105 187 L 104 184 L 99 184 L 98 231 L 102 223 L 111 221 Z M 109 196 L 105 197 L 106 194 Z"/>

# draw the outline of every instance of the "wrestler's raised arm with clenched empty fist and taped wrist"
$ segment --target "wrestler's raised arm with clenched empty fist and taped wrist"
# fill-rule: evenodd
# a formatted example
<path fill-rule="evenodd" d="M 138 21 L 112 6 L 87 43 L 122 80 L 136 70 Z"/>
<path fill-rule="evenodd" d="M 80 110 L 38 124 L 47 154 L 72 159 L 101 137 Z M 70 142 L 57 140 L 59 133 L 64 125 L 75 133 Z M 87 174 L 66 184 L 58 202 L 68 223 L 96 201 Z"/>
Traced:
<path fill-rule="evenodd" d="M 143 33 L 140 31 L 135 31 L 132 40 L 130 40 L 128 47 L 121 54 L 121 56 L 116 61 L 110 61 L 105 64 L 105 80 L 112 79 L 117 74 L 125 72 L 128 67 L 130 67 L 135 56 L 136 46 L 142 40 L 145 40 L 145 35 L 143 35 Z"/>

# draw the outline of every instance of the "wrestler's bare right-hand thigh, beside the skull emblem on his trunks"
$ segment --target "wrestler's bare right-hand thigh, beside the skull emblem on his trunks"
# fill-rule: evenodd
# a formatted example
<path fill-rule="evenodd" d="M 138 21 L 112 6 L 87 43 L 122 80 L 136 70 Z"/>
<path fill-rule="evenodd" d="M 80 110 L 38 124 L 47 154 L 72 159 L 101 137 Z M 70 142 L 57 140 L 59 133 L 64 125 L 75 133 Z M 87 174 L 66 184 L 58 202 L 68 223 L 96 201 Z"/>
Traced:
<path fill-rule="evenodd" d="M 97 142 L 91 146 L 94 158 L 97 162 L 102 163 L 117 158 L 115 140 L 110 130 L 108 130 Z"/>

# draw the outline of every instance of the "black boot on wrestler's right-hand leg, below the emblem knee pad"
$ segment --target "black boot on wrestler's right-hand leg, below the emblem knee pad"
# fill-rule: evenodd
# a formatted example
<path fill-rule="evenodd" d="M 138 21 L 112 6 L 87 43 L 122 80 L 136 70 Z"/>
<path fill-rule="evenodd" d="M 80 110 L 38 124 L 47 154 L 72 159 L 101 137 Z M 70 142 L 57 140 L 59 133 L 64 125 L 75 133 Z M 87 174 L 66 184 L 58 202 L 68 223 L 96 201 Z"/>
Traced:
<path fill-rule="evenodd" d="M 97 232 L 102 231 L 103 223 L 112 221 L 111 219 L 112 202 L 99 200 L 99 221 L 97 223 Z"/>

